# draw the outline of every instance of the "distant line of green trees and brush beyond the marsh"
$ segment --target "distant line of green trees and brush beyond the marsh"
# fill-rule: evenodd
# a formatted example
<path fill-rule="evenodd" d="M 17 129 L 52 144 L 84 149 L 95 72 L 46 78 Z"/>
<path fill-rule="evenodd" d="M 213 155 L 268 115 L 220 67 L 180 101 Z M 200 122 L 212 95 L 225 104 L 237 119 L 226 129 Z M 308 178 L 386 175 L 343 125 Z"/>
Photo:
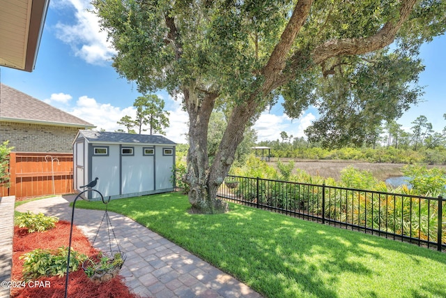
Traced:
<path fill-rule="evenodd" d="M 443 117 L 446 120 L 446 114 Z M 293 137 L 285 131 L 280 133 L 280 140 L 263 141 L 258 145 L 270 147 L 272 157 L 446 164 L 446 126 L 441 132 L 433 131 L 425 116 L 417 117 L 412 124 L 408 132 L 396 121 L 385 122 L 376 131 L 376 142 L 362 146 L 353 142 L 330 146 L 327 142 L 314 142 L 310 137 Z"/>

